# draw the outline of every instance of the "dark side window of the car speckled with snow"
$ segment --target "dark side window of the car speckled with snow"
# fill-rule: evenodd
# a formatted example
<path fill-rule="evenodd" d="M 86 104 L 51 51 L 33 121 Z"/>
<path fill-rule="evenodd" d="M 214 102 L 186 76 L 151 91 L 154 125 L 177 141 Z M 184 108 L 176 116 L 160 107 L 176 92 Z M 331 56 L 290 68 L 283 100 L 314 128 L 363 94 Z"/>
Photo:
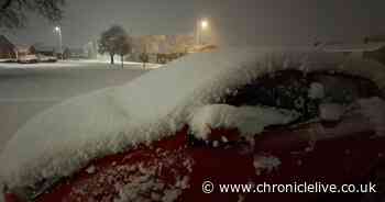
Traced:
<path fill-rule="evenodd" d="M 321 94 L 317 94 L 317 90 Z M 235 106 L 266 105 L 295 110 L 301 114 L 296 122 L 302 122 L 318 116 L 321 103 L 345 105 L 360 98 L 374 96 L 380 96 L 378 88 L 360 77 L 282 70 L 231 91 L 224 102 Z"/>

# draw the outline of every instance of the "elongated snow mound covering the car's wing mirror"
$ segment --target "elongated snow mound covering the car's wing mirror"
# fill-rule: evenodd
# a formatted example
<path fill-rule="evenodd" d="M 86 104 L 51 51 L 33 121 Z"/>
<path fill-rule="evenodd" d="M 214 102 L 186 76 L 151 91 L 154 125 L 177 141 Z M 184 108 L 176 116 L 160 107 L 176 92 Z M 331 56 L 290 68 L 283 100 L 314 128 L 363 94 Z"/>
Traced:
<path fill-rule="evenodd" d="M 287 124 L 298 116 L 297 112 L 267 106 L 211 104 L 197 109 L 189 126 L 194 135 L 202 139 L 208 138 L 211 128 L 238 128 L 241 135 L 253 136 L 265 126 Z"/>

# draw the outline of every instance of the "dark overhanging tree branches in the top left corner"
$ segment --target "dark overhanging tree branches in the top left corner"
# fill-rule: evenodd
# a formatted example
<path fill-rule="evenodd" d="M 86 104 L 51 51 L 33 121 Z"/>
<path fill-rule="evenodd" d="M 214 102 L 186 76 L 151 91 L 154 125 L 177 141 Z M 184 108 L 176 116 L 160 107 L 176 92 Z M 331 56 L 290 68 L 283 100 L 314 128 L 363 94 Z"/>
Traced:
<path fill-rule="evenodd" d="M 0 0 L 0 27 L 24 26 L 28 12 L 58 22 L 63 18 L 65 2 L 66 0 Z"/>

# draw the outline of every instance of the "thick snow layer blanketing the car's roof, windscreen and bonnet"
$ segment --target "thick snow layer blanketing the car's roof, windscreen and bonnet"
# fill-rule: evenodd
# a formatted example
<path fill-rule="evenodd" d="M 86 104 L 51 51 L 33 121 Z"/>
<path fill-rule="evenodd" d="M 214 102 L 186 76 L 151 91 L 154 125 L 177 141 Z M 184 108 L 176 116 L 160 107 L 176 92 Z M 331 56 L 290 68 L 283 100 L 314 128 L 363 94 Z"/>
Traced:
<path fill-rule="evenodd" d="M 256 48 L 193 54 L 37 114 L 3 149 L 0 179 L 15 188 L 69 176 L 96 157 L 172 135 L 197 108 L 216 103 L 229 88 L 286 68 L 341 70 L 385 87 L 383 66 L 342 55 Z"/>

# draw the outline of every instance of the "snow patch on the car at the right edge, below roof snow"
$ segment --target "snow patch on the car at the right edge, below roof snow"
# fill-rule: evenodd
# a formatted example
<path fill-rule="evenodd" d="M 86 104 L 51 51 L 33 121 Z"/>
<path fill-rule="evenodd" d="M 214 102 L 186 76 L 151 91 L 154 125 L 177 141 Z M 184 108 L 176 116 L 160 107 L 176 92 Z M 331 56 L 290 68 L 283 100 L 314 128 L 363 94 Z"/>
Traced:
<path fill-rule="evenodd" d="M 374 125 L 377 135 L 385 135 L 385 101 L 375 97 L 358 101 L 361 113 Z"/>

